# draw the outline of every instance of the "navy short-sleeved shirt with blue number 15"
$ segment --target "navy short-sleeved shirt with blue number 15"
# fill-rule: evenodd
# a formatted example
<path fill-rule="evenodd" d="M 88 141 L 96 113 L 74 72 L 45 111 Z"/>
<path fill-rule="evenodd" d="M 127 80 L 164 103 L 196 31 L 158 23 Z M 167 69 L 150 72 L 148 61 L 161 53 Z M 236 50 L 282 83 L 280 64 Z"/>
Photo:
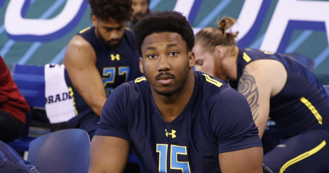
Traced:
<path fill-rule="evenodd" d="M 220 172 L 219 153 L 262 146 L 246 99 L 220 79 L 194 76 L 192 96 L 171 122 L 145 77 L 121 84 L 105 102 L 95 135 L 129 141 L 142 172 Z"/>

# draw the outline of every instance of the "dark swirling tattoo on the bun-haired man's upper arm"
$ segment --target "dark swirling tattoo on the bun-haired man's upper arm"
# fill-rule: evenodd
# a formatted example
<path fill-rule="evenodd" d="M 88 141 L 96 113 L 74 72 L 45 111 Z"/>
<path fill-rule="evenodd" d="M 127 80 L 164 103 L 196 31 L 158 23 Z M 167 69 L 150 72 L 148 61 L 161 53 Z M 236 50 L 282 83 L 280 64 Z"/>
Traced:
<path fill-rule="evenodd" d="M 248 101 L 253 113 L 253 118 L 256 120 L 259 115 L 258 89 L 254 76 L 250 75 L 245 69 L 239 79 L 237 91 L 241 93 Z"/>

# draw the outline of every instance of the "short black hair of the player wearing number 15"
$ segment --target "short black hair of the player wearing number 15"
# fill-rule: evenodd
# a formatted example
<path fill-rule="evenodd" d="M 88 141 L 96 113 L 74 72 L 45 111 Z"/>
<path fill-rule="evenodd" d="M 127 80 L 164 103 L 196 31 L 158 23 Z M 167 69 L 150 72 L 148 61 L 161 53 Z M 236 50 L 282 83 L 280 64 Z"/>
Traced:
<path fill-rule="evenodd" d="M 180 34 L 188 51 L 194 46 L 194 33 L 190 22 L 181 13 L 174 11 L 154 12 L 143 17 L 134 25 L 135 45 L 142 55 L 141 46 L 146 36 L 160 32 L 176 32 Z"/>

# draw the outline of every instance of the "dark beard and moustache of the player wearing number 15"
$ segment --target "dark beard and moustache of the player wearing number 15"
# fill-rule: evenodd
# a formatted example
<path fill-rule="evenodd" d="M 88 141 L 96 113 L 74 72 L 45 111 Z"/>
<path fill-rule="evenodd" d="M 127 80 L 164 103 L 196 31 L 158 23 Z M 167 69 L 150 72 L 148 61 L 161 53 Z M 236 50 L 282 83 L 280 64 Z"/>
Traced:
<path fill-rule="evenodd" d="M 144 75 L 145 75 L 147 81 L 151 81 L 149 75 L 146 73 L 146 71 L 144 69 L 144 66 L 143 66 L 143 70 L 144 70 Z M 189 70 L 190 70 L 190 67 L 187 63 L 187 65 L 185 66 L 185 68 L 183 70 L 183 73 L 182 73 L 182 80 L 180 81 L 180 84 L 176 88 L 173 88 L 170 91 L 160 91 L 160 90 L 156 89 L 155 87 L 152 87 L 154 92 L 157 93 L 158 95 L 166 96 L 166 97 L 171 97 L 174 94 L 180 92 L 186 85 L 186 82 L 187 82 L 187 79 L 188 79 L 188 76 L 189 76 Z M 159 78 L 162 75 L 171 76 L 172 78 L 175 77 L 174 74 L 171 74 L 169 72 L 161 72 L 158 75 L 156 75 L 155 79 Z"/>

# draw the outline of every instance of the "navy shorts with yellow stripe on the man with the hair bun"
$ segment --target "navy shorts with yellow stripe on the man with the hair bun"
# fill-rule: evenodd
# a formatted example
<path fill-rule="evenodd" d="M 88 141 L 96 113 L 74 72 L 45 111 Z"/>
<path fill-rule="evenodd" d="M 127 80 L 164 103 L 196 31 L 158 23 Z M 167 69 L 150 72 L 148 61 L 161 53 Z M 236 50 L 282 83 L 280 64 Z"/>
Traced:
<path fill-rule="evenodd" d="M 262 142 L 263 162 L 273 172 L 329 172 L 327 129 L 313 129 L 287 139 L 265 131 Z"/>

